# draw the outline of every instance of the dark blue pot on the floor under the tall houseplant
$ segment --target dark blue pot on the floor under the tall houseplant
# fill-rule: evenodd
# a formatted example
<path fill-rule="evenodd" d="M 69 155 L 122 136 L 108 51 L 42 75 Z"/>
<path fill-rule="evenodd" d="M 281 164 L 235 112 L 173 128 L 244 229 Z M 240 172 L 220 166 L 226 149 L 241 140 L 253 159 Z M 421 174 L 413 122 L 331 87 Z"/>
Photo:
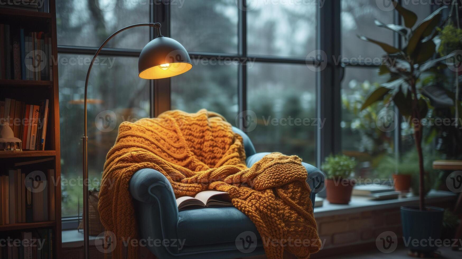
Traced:
<path fill-rule="evenodd" d="M 438 249 L 435 239 L 441 238 L 444 209 L 426 206 L 401 206 L 401 224 L 404 244 L 417 252 L 432 252 Z M 417 240 L 417 241 L 416 241 Z"/>

